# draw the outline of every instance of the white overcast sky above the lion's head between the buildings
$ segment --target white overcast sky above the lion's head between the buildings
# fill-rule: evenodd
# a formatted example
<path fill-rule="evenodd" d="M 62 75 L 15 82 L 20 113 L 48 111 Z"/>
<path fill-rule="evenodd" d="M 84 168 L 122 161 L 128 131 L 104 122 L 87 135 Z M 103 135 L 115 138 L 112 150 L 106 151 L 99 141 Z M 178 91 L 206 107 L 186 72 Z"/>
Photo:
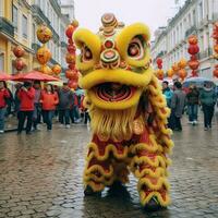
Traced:
<path fill-rule="evenodd" d="M 74 0 L 75 17 L 80 26 L 97 32 L 100 17 L 106 12 L 116 14 L 125 24 L 144 22 L 154 33 L 159 26 L 165 26 L 172 17 L 177 8 L 175 0 Z M 184 0 L 180 0 L 181 3 Z"/>

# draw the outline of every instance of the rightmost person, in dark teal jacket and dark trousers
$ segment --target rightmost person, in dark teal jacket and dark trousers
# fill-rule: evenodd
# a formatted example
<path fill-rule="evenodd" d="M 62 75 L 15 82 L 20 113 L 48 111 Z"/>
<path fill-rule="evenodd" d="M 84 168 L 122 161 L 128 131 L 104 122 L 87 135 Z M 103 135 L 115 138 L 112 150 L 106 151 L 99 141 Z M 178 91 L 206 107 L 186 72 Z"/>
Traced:
<path fill-rule="evenodd" d="M 208 129 L 211 129 L 211 120 L 217 102 L 217 95 L 210 83 L 204 84 L 204 88 L 199 94 L 199 100 L 204 112 L 204 128 L 205 131 L 207 131 Z"/>

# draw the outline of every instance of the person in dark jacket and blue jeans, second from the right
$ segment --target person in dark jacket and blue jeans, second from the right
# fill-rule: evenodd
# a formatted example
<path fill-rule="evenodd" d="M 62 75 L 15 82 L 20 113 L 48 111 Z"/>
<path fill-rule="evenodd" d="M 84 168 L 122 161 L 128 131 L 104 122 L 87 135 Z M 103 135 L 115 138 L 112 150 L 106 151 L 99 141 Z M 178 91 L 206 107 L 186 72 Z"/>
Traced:
<path fill-rule="evenodd" d="M 189 123 L 197 124 L 197 112 L 199 104 L 199 92 L 195 85 L 190 87 L 190 92 L 186 95 Z"/>

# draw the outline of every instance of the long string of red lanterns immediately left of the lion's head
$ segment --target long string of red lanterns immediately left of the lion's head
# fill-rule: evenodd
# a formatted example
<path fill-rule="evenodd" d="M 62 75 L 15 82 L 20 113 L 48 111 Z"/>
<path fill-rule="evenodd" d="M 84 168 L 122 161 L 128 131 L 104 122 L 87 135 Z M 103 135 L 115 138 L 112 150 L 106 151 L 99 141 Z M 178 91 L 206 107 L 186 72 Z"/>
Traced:
<path fill-rule="evenodd" d="M 68 84 L 70 88 L 76 89 L 78 86 L 78 71 L 75 68 L 76 48 L 72 40 L 73 33 L 78 26 L 78 22 L 74 20 L 65 29 L 68 40 L 68 53 L 65 55 L 65 62 L 69 64 L 69 69 L 65 71 L 65 77 L 69 80 Z"/>

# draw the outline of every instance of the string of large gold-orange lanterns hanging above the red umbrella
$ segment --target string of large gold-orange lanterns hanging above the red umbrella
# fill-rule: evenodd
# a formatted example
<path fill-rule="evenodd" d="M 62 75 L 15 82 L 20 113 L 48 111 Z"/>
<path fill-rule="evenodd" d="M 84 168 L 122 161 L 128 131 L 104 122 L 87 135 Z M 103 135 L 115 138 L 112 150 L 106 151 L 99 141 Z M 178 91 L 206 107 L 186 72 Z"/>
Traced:
<path fill-rule="evenodd" d="M 38 27 L 36 35 L 38 40 L 43 44 L 43 46 L 36 52 L 36 58 L 41 64 L 39 71 L 45 74 L 52 74 L 53 72 L 51 68 L 47 65 L 47 63 L 51 59 L 51 52 L 46 47 L 46 44 L 52 38 L 52 32 L 46 26 L 46 24 L 41 24 Z"/>

